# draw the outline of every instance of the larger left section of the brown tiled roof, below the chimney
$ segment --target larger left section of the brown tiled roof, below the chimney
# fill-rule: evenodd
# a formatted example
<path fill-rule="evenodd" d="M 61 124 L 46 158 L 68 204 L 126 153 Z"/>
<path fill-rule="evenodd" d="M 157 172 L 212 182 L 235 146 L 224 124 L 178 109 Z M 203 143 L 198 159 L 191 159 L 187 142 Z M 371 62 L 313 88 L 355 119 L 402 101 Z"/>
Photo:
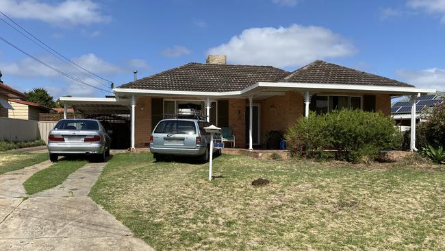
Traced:
<path fill-rule="evenodd" d="M 188 63 L 118 88 L 170 91 L 240 91 L 257 82 L 277 82 L 288 75 L 275 67 Z"/>

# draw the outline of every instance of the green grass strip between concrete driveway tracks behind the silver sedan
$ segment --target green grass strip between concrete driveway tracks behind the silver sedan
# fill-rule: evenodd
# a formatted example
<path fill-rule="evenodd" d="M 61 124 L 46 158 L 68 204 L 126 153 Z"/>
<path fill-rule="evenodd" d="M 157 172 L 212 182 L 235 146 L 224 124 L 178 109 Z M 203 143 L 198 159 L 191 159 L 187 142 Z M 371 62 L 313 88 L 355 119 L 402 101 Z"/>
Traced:
<path fill-rule="evenodd" d="M 88 163 L 86 160 L 62 159 L 58 163 L 42 169 L 23 182 L 27 194 L 32 195 L 62 184 L 66 177 Z"/>

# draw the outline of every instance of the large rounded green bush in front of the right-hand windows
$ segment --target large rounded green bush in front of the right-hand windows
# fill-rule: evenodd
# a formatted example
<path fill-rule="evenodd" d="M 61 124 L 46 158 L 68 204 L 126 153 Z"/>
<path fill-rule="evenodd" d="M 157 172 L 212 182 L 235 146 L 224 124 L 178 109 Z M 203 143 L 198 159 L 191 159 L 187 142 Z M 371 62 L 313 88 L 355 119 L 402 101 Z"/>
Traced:
<path fill-rule="evenodd" d="M 308 119 L 291 125 L 285 138 L 293 154 L 361 162 L 378 158 L 381 150 L 401 147 L 402 135 L 394 125 L 394 119 L 381 112 L 311 112 Z"/>

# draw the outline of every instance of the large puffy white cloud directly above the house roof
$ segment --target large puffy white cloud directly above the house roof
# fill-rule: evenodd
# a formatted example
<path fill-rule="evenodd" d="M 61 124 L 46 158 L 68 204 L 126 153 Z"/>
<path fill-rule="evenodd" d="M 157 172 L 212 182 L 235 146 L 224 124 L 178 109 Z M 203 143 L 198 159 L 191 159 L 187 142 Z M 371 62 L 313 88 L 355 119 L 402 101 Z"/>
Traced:
<path fill-rule="evenodd" d="M 295 67 L 316 59 L 353 55 L 357 50 L 340 34 L 319 26 L 291 25 L 244 29 L 208 54 L 227 55 L 235 64 Z"/>

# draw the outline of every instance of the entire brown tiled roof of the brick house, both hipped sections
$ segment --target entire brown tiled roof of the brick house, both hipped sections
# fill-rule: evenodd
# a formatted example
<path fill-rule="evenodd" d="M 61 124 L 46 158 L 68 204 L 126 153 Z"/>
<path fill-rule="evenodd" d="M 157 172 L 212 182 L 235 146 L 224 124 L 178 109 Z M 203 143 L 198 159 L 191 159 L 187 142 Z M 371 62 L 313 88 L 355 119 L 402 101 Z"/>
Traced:
<path fill-rule="evenodd" d="M 270 66 L 188 63 L 118 88 L 168 91 L 241 91 L 257 82 L 411 86 L 321 60 L 289 73 Z"/>

